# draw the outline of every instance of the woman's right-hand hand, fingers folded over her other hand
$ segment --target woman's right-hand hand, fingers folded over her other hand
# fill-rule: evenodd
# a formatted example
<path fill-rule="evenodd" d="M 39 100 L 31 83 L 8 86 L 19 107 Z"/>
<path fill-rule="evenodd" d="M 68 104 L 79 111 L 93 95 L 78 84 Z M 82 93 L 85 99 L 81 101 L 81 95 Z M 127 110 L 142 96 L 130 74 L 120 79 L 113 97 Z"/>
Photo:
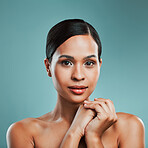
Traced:
<path fill-rule="evenodd" d="M 96 117 L 85 128 L 85 135 L 101 138 L 103 133 L 117 121 L 114 104 L 109 99 L 98 98 L 94 101 L 84 101 L 86 109 L 96 112 Z"/>

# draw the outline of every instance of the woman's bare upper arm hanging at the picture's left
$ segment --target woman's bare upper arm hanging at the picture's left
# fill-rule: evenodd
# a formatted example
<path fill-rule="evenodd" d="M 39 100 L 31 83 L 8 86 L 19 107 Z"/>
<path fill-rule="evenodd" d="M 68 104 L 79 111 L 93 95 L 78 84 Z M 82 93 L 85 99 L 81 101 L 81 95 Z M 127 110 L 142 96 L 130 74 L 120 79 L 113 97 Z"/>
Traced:
<path fill-rule="evenodd" d="M 12 124 L 6 138 L 7 148 L 34 148 L 33 139 L 22 122 Z"/>

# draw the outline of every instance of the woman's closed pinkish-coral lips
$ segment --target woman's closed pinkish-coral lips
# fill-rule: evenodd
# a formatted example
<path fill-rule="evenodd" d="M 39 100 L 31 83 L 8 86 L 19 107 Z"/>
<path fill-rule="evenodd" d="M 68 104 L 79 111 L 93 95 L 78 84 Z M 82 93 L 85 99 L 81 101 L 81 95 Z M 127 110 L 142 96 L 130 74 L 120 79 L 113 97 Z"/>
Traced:
<path fill-rule="evenodd" d="M 70 91 L 76 95 L 81 95 L 83 94 L 86 89 L 88 88 L 87 86 L 70 86 L 68 87 Z"/>

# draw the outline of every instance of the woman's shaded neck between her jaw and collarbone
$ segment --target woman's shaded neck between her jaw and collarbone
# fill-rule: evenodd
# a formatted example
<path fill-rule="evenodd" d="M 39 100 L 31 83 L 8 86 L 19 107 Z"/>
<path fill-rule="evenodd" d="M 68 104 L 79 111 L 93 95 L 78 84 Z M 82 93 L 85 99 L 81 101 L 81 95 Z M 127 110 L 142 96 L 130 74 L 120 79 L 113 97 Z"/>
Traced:
<path fill-rule="evenodd" d="M 52 111 L 52 117 L 53 117 L 52 119 L 56 121 L 57 120 L 66 121 L 67 123 L 71 124 L 79 106 L 82 103 L 83 102 L 81 103 L 69 102 L 62 96 L 58 95 L 56 106 Z"/>

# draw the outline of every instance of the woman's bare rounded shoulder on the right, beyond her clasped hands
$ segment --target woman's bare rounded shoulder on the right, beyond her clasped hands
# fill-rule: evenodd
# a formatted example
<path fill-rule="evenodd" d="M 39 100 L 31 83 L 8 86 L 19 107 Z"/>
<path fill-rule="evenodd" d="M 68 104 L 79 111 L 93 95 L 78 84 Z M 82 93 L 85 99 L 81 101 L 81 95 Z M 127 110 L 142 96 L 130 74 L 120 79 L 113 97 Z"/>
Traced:
<path fill-rule="evenodd" d="M 136 115 L 123 112 L 118 112 L 117 117 L 118 120 L 116 125 L 118 127 L 118 132 L 119 132 L 118 139 L 120 141 L 120 145 L 126 145 L 127 143 L 132 143 L 132 141 L 134 141 L 133 139 L 136 138 L 140 139 L 140 137 L 141 141 L 143 142 L 145 127 L 141 118 L 139 118 Z M 125 141 L 127 143 L 125 143 Z"/>

